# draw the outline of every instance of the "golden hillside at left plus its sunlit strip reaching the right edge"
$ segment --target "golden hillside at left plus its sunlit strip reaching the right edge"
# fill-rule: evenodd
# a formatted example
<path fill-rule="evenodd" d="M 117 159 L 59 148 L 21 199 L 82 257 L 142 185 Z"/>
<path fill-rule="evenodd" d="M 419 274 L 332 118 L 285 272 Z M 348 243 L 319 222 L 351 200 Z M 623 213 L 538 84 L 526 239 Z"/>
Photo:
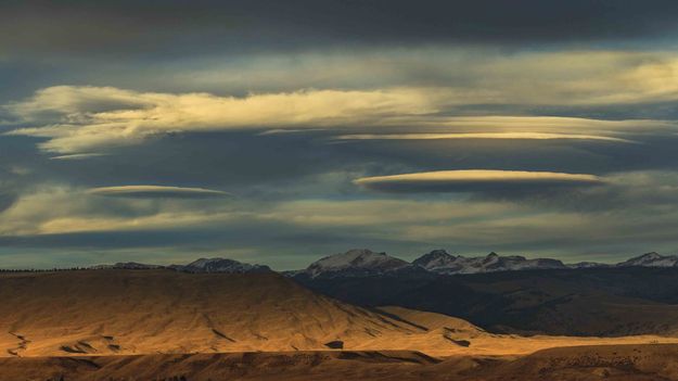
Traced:
<path fill-rule="evenodd" d="M 563 345 L 678 342 L 489 333 L 442 314 L 357 307 L 271 271 L 5 272 L 0 301 L 5 357 L 335 350 L 517 355 Z"/>

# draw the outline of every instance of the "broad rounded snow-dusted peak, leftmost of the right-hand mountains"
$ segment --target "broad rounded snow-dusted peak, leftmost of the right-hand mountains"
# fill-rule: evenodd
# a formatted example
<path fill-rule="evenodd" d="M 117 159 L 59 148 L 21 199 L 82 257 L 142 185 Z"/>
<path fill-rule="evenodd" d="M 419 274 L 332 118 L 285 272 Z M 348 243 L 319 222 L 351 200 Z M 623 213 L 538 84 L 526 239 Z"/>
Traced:
<path fill-rule="evenodd" d="M 392 257 L 386 253 L 375 253 L 367 249 L 354 249 L 346 253 L 327 256 L 312 263 L 304 271 L 316 278 L 323 274 L 378 275 L 411 266 L 409 263 Z"/>

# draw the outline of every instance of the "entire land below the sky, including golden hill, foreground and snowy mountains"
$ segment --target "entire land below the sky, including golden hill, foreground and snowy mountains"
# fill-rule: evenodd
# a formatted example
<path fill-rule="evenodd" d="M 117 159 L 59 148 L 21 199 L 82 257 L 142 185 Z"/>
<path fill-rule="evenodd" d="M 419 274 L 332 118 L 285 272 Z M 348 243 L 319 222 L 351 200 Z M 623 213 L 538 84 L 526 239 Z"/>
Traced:
<path fill-rule="evenodd" d="M 410 263 L 353 250 L 285 276 L 223 258 L 7 271 L 0 380 L 278 380 L 290 369 L 295 380 L 669 380 L 675 259 L 568 266 L 434 251 Z"/>

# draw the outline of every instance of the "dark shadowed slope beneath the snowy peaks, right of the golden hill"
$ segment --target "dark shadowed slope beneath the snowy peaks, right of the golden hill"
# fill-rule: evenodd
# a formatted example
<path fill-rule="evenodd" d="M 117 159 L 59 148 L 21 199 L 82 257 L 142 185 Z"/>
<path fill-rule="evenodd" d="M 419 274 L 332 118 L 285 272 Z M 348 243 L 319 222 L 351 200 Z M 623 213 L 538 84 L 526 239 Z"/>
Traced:
<path fill-rule="evenodd" d="M 678 268 L 673 267 L 298 281 L 346 303 L 436 312 L 492 332 L 678 335 Z"/>

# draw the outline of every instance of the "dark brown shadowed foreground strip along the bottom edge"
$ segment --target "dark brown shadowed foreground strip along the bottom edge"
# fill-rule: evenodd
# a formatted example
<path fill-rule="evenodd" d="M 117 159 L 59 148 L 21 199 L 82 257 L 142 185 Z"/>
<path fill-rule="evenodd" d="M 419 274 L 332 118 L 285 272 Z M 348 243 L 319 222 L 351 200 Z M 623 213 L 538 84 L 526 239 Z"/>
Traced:
<path fill-rule="evenodd" d="M 678 345 L 590 345 L 526 356 L 431 357 L 408 351 L 247 352 L 0 358 L 0 380 L 459 380 L 678 379 Z"/>

